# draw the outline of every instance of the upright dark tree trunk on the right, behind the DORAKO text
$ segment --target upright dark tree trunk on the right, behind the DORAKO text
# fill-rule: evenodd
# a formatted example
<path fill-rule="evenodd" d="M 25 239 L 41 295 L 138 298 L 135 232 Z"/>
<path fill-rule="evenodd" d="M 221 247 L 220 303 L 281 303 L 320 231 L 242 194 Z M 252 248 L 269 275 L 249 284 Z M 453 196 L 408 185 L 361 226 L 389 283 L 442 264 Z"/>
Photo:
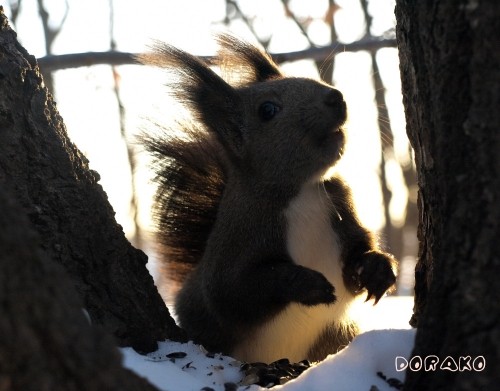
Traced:
<path fill-rule="evenodd" d="M 408 371 L 405 390 L 498 390 L 500 2 L 398 0 L 396 19 L 420 188 L 413 356 L 486 362 Z"/>

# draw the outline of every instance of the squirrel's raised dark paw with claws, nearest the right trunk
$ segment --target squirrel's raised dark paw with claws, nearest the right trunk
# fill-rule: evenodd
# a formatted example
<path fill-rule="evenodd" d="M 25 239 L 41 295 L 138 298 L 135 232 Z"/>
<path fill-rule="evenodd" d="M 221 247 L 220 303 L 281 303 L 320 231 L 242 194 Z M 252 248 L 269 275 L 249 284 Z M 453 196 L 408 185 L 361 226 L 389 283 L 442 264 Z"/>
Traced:
<path fill-rule="evenodd" d="M 396 282 L 394 264 L 394 258 L 386 253 L 369 251 L 363 254 L 353 279 L 356 280 L 358 292 L 362 289 L 368 291 L 366 301 L 374 298 L 377 304 L 384 293 Z"/>

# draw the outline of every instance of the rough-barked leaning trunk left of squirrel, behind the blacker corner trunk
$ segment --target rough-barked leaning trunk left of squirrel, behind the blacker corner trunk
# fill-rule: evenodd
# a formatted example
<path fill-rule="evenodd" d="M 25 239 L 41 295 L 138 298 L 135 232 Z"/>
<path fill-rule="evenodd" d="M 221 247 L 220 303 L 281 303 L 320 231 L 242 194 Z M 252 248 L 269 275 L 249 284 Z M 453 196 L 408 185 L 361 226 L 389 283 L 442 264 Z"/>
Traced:
<path fill-rule="evenodd" d="M 0 187 L 12 189 L 44 256 L 69 274 L 63 285 L 76 287 L 92 323 L 121 346 L 151 351 L 156 341 L 181 333 L 147 272 L 147 257 L 126 240 L 98 180 L 68 139 L 35 58 L 19 45 L 0 7 Z M 6 224 L 2 230 L 17 222 Z M 0 257 L 7 255 L 0 247 Z M 35 296 L 29 288 L 25 294 Z"/>

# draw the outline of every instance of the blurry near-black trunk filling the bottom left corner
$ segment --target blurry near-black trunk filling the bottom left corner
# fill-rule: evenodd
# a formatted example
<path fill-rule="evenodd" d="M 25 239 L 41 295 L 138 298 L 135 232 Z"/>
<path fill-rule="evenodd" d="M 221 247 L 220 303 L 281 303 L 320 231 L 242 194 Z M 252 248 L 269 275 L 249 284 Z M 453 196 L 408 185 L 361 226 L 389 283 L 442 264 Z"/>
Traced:
<path fill-rule="evenodd" d="M 0 186 L 0 390 L 155 390 L 122 367 L 109 334 L 90 326 L 9 187 Z"/>

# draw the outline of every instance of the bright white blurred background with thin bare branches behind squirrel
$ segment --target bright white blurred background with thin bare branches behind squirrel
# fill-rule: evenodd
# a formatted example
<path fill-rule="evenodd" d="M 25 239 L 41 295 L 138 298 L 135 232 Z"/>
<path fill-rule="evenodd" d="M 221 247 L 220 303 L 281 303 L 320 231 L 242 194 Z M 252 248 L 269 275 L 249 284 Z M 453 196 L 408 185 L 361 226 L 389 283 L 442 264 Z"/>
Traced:
<path fill-rule="evenodd" d="M 229 31 L 260 43 L 286 74 L 321 78 L 342 91 L 349 143 L 338 170 L 353 189 L 363 223 L 400 260 L 396 294 L 413 294 L 417 185 L 405 133 L 394 1 L 5 0 L 2 5 L 19 41 L 39 59 L 70 138 L 99 172 L 117 221 L 153 259 L 154 275 L 155 188 L 136 136 L 152 123 L 168 125 L 181 108 L 168 95 L 164 72 L 133 64 L 131 54 L 161 40 L 211 56 L 214 34 Z"/>

